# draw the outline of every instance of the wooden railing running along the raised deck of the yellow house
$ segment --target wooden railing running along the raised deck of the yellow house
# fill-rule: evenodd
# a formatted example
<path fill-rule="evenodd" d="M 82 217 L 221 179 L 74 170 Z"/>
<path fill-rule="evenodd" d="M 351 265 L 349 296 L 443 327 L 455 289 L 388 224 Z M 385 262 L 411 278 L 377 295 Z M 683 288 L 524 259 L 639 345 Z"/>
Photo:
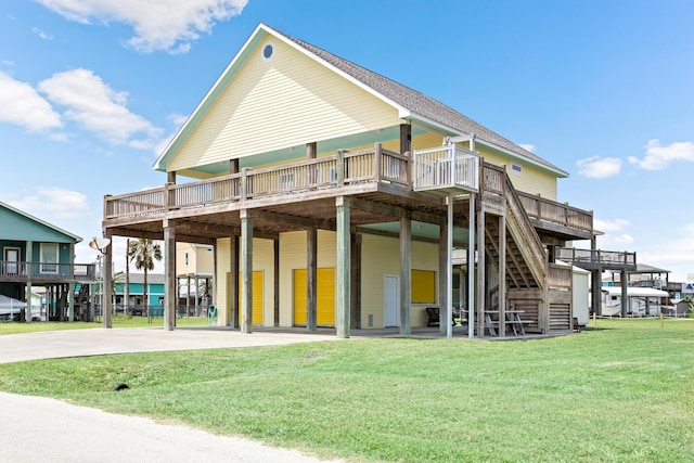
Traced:
<path fill-rule="evenodd" d="M 417 152 L 417 162 L 415 163 L 409 155 L 383 150 L 381 144 L 369 150 L 354 153 L 343 152 L 281 166 L 259 169 L 245 168 L 239 173 L 209 180 L 165 184 L 160 188 L 117 196 L 107 195 L 104 198 L 104 215 L 105 219 L 146 218 L 170 209 L 201 207 L 368 182 L 388 182 L 412 190 L 413 182 L 426 183 L 427 181 L 440 180 L 452 181 L 473 191 L 481 189 L 485 193 L 505 194 L 503 168 L 488 163 L 484 163 L 484 167 L 481 167 L 479 166 L 480 158 L 476 153 L 460 147 L 454 151 L 454 168 L 450 165 L 452 160 L 446 164 L 447 162 L 441 157 L 450 154 L 450 146 Z M 424 167 L 425 164 L 428 165 L 427 162 L 432 166 L 438 163 L 438 167 L 429 166 L 432 168 L 426 170 Z M 419 170 L 416 169 L 417 163 L 420 164 Z M 479 175 L 480 168 L 481 176 Z M 411 169 L 415 171 L 411 171 Z M 518 197 L 526 214 L 532 219 L 592 231 L 592 213 L 525 193 L 518 193 Z"/>

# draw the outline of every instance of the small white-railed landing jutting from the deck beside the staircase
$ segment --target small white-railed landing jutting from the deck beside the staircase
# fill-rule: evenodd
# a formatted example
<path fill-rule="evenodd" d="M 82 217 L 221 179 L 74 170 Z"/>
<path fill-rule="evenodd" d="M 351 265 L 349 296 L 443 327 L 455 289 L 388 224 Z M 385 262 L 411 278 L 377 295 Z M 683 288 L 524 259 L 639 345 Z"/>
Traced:
<path fill-rule="evenodd" d="M 414 191 L 460 189 L 479 190 L 479 156 L 455 144 L 415 150 Z"/>

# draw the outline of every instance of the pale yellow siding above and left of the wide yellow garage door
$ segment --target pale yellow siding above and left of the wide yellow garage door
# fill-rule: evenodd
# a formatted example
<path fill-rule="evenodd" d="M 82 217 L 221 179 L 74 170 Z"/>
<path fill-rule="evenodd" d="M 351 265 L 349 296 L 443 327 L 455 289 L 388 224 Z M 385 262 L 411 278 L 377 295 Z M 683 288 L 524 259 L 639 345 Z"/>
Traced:
<path fill-rule="evenodd" d="M 306 271 L 306 232 L 282 233 L 280 235 L 280 326 L 294 324 L 294 270 L 303 269 Z M 336 241 L 334 232 L 318 231 L 317 261 L 319 268 L 335 267 Z M 306 293 L 306 291 L 304 292 Z M 306 303 L 304 304 L 306 307 Z"/>

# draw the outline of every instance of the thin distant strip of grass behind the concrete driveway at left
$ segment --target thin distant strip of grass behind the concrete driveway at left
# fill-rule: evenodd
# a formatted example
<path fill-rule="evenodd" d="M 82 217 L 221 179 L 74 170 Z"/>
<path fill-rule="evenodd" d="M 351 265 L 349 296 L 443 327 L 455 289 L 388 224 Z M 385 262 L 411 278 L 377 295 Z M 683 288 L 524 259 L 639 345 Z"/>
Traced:
<path fill-rule="evenodd" d="M 201 326 L 207 325 L 207 318 L 191 317 L 176 320 L 177 326 Z M 0 336 L 3 334 L 21 334 L 35 333 L 39 331 L 57 331 L 57 330 L 89 330 L 102 327 L 102 322 L 5 322 L 0 323 Z M 123 317 L 114 316 L 112 319 L 113 327 L 152 327 L 164 326 L 163 318 L 154 318 L 151 321 L 146 317 Z"/>

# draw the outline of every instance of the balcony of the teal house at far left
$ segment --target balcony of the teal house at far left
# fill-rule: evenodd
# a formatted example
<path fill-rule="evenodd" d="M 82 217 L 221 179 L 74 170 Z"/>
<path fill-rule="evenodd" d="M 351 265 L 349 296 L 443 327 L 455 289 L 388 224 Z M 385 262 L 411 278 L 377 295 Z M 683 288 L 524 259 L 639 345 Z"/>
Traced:
<path fill-rule="evenodd" d="M 0 260 L 0 282 L 89 283 L 94 281 L 93 263 L 17 262 Z"/>

